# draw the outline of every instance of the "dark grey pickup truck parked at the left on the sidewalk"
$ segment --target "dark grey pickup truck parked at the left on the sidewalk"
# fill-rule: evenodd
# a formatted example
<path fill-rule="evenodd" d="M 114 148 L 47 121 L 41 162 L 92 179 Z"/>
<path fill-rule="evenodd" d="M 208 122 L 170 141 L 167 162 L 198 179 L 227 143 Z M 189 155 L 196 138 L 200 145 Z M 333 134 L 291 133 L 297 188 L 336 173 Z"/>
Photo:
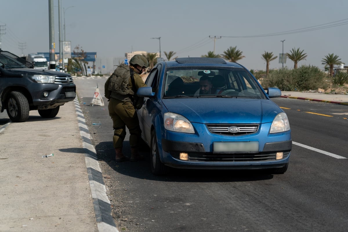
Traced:
<path fill-rule="evenodd" d="M 75 93 L 70 74 L 34 69 L 32 63 L 0 49 L 0 110 L 6 109 L 12 122 L 26 121 L 30 110 L 53 118 Z"/>

